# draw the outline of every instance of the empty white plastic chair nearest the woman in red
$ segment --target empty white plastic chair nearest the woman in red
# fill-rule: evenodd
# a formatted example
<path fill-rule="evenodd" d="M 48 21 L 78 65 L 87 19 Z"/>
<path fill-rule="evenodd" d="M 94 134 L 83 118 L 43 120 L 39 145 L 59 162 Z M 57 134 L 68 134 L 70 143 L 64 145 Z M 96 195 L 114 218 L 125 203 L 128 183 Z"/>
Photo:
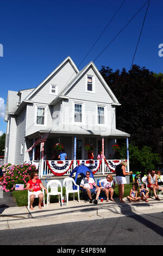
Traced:
<path fill-rule="evenodd" d="M 49 187 L 51 188 L 51 192 L 48 191 Z M 58 187 L 60 187 L 60 190 L 61 190 L 60 192 L 58 191 Z M 63 203 L 62 203 L 62 185 L 59 180 L 49 180 L 47 183 L 47 206 L 50 203 L 51 195 L 52 196 L 58 195 L 58 199 L 61 202 L 61 205 L 63 205 Z"/>

